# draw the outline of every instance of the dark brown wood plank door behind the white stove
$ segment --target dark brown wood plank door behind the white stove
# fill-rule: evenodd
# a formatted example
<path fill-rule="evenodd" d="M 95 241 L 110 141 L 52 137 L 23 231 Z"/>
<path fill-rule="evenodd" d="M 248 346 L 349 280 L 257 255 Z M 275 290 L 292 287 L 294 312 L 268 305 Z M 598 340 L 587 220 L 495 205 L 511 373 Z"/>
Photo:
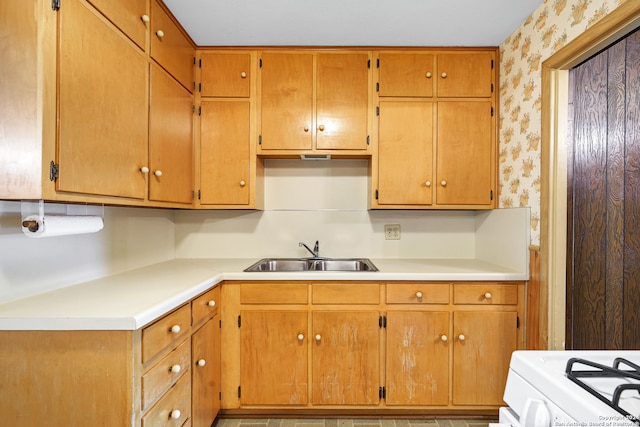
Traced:
<path fill-rule="evenodd" d="M 640 32 L 569 76 L 566 346 L 640 348 Z"/>

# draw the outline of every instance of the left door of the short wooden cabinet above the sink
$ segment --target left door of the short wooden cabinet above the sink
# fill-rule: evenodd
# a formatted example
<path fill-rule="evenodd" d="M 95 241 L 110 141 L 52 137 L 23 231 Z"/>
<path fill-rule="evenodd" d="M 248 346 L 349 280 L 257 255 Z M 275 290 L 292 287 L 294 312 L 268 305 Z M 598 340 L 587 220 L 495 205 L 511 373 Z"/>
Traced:
<path fill-rule="evenodd" d="M 313 145 L 313 54 L 262 54 L 263 150 L 310 150 Z"/>

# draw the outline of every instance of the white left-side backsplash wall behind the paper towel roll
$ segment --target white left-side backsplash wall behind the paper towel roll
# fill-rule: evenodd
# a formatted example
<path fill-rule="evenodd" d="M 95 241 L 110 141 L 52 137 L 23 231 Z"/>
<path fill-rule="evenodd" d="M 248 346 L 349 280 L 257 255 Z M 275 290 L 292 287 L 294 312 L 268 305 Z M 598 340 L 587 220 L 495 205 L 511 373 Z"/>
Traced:
<path fill-rule="evenodd" d="M 0 303 L 174 258 L 171 210 L 106 207 L 97 233 L 32 239 L 20 206 L 0 201 Z"/>

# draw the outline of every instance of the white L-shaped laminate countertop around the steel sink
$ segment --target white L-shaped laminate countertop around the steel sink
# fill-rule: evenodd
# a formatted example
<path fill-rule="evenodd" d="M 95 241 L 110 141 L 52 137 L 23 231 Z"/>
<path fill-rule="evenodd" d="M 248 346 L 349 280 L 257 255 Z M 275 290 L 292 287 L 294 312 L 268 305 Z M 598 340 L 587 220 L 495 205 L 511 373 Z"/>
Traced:
<path fill-rule="evenodd" d="M 136 330 L 223 280 L 528 280 L 475 259 L 372 259 L 378 272 L 243 270 L 257 259 L 174 259 L 0 304 L 0 330 Z"/>

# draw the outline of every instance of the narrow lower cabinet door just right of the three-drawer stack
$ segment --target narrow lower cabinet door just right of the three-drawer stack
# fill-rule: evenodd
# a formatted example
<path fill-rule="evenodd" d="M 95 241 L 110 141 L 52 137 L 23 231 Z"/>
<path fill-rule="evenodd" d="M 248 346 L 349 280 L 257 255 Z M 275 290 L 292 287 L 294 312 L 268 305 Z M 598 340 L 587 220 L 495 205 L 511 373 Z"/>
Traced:
<path fill-rule="evenodd" d="M 210 427 L 220 409 L 220 316 L 191 337 L 191 425 Z"/>

